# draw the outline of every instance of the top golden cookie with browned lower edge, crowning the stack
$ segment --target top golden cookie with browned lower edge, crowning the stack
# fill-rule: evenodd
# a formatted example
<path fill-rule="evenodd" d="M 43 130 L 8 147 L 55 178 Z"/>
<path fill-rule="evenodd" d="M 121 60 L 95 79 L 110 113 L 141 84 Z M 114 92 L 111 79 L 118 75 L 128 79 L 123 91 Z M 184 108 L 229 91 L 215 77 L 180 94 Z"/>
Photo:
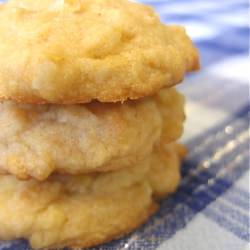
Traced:
<path fill-rule="evenodd" d="M 183 28 L 127 0 L 12 0 L 0 8 L 0 99 L 125 101 L 199 68 Z"/>

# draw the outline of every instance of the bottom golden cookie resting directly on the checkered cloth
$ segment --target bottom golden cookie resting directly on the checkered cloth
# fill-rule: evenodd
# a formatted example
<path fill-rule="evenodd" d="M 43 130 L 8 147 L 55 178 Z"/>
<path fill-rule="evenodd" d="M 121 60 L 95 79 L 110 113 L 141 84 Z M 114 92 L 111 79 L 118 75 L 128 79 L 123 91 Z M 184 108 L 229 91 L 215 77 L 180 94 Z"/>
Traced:
<path fill-rule="evenodd" d="M 0 177 L 0 240 L 26 238 L 34 249 L 89 247 L 120 237 L 176 190 L 178 147 L 157 149 L 135 167 L 46 182 Z"/>

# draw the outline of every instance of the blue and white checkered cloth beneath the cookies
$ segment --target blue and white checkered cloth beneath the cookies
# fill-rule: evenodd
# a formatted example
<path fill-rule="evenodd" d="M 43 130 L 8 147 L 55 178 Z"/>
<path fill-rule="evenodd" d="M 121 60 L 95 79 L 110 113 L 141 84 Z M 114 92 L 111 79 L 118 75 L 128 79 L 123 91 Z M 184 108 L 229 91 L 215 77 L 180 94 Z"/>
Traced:
<path fill-rule="evenodd" d="M 201 72 L 179 87 L 190 154 L 178 192 L 146 225 L 94 249 L 250 249 L 248 0 L 141 2 L 163 22 L 184 25 L 200 50 Z M 0 249 L 29 247 L 15 241 Z"/>

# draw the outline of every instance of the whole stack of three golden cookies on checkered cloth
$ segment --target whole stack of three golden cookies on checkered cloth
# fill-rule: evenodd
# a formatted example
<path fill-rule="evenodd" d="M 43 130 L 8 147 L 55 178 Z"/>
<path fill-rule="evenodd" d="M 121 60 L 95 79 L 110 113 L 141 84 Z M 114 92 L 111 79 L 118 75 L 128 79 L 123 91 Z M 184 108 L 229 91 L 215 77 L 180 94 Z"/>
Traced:
<path fill-rule="evenodd" d="M 88 247 L 138 227 L 180 180 L 185 31 L 126 0 L 12 0 L 0 40 L 0 239 Z"/>

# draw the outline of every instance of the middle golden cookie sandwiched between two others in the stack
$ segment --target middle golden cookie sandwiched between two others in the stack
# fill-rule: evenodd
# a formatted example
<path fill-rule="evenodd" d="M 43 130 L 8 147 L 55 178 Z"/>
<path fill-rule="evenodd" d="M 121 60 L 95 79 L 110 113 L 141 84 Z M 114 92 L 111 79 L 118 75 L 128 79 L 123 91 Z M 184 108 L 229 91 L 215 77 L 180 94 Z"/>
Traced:
<path fill-rule="evenodd" d="M 131 166 L 182 134 L 184 101 L 175 89 L 123 104 L 0 104 L 0 172 L 45 180 Z"/>

